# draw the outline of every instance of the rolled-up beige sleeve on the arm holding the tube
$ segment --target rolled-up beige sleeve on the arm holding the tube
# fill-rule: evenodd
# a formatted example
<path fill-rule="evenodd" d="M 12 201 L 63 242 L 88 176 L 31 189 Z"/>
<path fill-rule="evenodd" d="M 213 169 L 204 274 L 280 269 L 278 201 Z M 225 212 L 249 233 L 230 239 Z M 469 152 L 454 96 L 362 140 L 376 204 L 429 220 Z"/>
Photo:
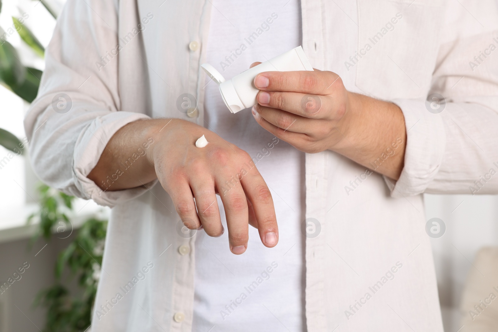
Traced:
<path fill-rule="evenodd" d="M 449 1 L 428 94 L 443 99 L 433 108 L 425 100 L 392 101 L 407 138 L 399 179 L 385 179 L 391 196 L 498 194 L 497 7 Z"/>

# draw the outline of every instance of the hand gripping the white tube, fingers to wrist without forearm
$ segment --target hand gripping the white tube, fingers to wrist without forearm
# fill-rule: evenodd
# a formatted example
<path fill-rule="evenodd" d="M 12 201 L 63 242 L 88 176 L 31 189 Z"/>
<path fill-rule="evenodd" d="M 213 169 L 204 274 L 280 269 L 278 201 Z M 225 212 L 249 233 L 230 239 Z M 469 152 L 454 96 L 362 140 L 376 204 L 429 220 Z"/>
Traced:
<path fill-rule="evenodd" d="M 351 99 L 328 71 L 264 72 L 254 78 L 252 114 L 276 137 L 308 153 L 333 150 L 349 133 Z"/>

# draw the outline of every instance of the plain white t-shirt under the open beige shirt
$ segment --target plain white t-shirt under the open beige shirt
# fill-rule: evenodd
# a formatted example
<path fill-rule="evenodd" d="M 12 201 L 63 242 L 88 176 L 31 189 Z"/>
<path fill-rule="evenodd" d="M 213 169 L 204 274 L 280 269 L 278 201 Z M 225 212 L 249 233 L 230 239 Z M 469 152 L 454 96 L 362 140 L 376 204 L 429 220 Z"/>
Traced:
<path fill-rule="evenodd" d="M 298 0 L 211 2 L 206 62 L 226 79 L 301 44 Z M 228 232 L 197 233 L 192 331 L 306 331 L 304 153 L 261 128 L 249 109 L 232 114 L 216 83 L 205 89 L 206 127 L 247 151 L 270 188 L 279 243 L 266 248 L 249 226 L 247 251 L 234 255 Z M 218 204 L 227 229 L 219 198 Z"/>

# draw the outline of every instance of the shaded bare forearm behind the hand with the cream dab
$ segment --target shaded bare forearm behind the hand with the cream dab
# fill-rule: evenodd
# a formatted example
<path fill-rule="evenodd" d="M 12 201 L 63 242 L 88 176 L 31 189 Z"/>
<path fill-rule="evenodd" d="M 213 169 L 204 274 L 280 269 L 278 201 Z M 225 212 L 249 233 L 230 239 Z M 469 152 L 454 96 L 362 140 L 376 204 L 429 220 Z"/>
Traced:
<path fill-rule="evenodd" d="M 135 188 L 154 180 L 150 156 L 157 134 L 169 121 L 144 119 L 126 124 L 109 140 L 88 178 L 105 191 Z"/>

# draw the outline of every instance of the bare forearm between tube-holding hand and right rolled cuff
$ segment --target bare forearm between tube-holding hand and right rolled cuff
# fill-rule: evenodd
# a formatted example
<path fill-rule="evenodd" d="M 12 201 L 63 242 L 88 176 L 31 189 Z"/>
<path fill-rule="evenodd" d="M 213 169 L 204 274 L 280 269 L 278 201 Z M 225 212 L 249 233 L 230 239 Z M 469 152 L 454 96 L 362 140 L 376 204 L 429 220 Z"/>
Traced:
<path fill-rule="evenodd" d="M 406 128 L 398 106 L 349 93 L 347 130 L 334 151 L 397 180 L 404 166 Z"/>

